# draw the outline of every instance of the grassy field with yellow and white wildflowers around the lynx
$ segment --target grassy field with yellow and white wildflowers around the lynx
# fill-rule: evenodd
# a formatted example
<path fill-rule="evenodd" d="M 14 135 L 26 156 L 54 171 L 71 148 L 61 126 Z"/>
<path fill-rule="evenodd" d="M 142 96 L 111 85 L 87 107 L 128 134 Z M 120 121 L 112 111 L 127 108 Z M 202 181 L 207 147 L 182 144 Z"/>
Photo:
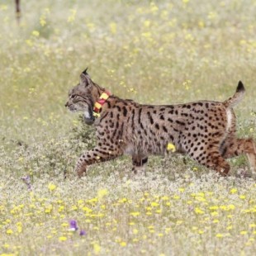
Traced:
<path fill-rule="evenodd" d="M 152 104 L 224 101 L 242 80 L 238 134 L 255 138 L 256 2 L 21 1 L 21 14 L 17 25 L 14 1 L 1 1 L 0 255 L 254 254 L 244 157 L 229 178 L 175 155 L 136 175 L 122 157 L 78 179 L 94 130 L 64 103 L 87 66 Z"/>

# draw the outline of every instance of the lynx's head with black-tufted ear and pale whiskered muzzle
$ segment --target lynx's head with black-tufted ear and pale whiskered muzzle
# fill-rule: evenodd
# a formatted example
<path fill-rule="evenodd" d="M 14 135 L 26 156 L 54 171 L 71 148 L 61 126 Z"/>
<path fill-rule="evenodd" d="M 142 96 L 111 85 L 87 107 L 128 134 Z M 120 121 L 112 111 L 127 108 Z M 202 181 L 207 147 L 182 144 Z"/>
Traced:
<path fill-rule="evenodd" d="M 83 118 L 87 125 L 92 125 L 93 116 L 93 87 L 94 83 L 87 73 L 87 69 L 80 75 L 80 83 L 69 91 L 69 99 L 65 107 L 69 111 L 83 111 Z"/>

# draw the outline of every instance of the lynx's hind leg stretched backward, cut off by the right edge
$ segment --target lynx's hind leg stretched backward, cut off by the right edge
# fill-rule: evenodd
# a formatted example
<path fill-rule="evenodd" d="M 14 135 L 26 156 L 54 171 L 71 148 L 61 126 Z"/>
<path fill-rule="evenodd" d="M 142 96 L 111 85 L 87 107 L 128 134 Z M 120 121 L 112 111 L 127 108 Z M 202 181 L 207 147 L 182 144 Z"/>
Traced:
<path fill-rule="evenodd" d="M 256 146 L 253 139 L 228 138 L 220 148 L 220 153 L 225 159 L 246 154 L 249 167 L 252 173 L 256 174 Z"/>

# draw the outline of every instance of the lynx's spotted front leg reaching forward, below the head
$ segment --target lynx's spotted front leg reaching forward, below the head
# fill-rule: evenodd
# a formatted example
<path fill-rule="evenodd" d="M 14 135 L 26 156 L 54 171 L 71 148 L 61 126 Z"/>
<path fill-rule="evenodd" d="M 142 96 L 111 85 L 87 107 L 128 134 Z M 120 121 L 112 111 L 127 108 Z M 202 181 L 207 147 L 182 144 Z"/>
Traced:
<path fill-rule="evenodd" d="M 82 154 L 78 159 L 75 167 L 75 173 L 81 178 L 83 173 L 86 173 L 86 168 L 90 164 L 105 162 L 111 159 L 116 159 L 116 157 L 122 154 L 121 149 L 112 149 L 107 146 L 97 146 L 96 148 L 89 150 Z"/>

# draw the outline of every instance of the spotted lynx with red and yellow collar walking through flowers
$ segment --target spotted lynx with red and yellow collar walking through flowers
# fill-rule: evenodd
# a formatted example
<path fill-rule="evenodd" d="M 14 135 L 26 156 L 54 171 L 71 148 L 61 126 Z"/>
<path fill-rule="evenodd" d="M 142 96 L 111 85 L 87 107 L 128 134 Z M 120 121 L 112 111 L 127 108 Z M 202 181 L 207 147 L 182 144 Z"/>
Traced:
<path fill-rule="evenodd" d="M 235 135 L 233 107 L 244 96 L 238 83 L 233 97 L 225 102 L 199 101 L 178 105 L 142 105 L 121 99 L 93 83 L 87 69 L 80 83 L 69 92 L 65 104 L 70 111 L 83 111 L 86 124 L 94 124 L 97 146 L 78 159 L 75 172 L 86 173 L 88 165 L 130 154 L 136 173 L 148 161 L 149 154 L 167 154 L 168 145 L 188 154 L 197 163 L 216 170 L 222 176 L 230 171 L 225 159 L 246 154 L 256 171 L 254 140 Z"/>

